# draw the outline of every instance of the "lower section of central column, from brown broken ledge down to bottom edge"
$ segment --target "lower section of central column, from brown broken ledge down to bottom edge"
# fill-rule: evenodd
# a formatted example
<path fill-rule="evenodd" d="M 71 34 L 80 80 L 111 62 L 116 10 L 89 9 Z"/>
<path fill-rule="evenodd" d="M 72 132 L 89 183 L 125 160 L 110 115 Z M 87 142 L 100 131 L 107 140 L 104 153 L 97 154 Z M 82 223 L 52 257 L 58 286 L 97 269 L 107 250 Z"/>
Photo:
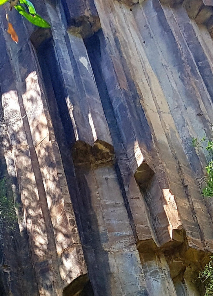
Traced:
<path fill-rule="evenodd" d="M 98 141 L 93 146 L 77 142 L 73 157 L 94 295 L 148 295 L 112 147 Z"/>

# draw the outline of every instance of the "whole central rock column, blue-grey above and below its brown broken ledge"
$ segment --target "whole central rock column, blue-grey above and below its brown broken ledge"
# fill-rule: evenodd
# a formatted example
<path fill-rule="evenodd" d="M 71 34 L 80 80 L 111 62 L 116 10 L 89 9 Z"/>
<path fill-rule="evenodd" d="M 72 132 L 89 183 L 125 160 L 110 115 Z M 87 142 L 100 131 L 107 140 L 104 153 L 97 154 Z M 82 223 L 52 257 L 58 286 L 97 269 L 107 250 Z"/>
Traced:
<path fill-rule="evenodd" d="M 58 26 L 59 12 L 50 4 L 47 10 L 54 26 Z M 81 239 L 94 295 L 147 295 L 87 49 L 74 28 L 66 33 L 62 27 L 61 32 L 53 34 L 53 41 L 77 140 L 73 159 L 80 190 Z"/>

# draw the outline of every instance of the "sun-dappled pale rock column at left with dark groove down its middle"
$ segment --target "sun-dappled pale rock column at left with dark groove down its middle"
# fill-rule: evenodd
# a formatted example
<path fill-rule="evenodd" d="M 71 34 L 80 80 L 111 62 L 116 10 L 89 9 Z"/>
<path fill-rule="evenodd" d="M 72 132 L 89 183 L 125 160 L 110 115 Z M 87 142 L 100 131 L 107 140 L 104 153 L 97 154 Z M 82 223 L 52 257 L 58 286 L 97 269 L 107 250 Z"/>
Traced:
<path fill-rule="evenodd" d="M 39 294 L 61 296 L 63 287 L 87 269 L 37 57 L 29 33 L 20 36 L 16 46 L 4 33 L 11 72 L 4 65 L 1 76 L 4 118 L 11 123 L 7 133 L 24 207 L 20 227 L 29 236 Z M 11 79 L 13 84 L 7 84 Z"/>

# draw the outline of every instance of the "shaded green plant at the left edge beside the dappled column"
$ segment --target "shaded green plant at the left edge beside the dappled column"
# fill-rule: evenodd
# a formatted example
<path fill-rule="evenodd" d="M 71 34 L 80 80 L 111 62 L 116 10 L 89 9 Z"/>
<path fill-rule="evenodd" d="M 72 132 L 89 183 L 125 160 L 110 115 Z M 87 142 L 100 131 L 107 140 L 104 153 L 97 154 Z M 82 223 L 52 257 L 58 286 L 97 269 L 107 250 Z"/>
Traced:
<path fill-rule="evenodd" d="M 14 229 L 17 222 L 13 200 L 7 197 L 6 179 L 0 180 L 0 229 Z"/>

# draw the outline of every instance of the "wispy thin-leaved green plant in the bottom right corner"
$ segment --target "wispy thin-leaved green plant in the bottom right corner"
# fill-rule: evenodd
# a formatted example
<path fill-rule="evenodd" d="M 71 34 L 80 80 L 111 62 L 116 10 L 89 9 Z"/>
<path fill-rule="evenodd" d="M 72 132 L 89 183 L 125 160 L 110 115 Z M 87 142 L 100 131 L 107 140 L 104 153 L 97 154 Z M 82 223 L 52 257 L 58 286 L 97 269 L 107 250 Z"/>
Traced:
<path fill-rule="evenodd" d="M 210 256 L 210 259 L 213 259 L 213 256 Z M 213 296 L 213 260 L 199 272 L 198 279 L 205 284 L 205 296 Z"/>

